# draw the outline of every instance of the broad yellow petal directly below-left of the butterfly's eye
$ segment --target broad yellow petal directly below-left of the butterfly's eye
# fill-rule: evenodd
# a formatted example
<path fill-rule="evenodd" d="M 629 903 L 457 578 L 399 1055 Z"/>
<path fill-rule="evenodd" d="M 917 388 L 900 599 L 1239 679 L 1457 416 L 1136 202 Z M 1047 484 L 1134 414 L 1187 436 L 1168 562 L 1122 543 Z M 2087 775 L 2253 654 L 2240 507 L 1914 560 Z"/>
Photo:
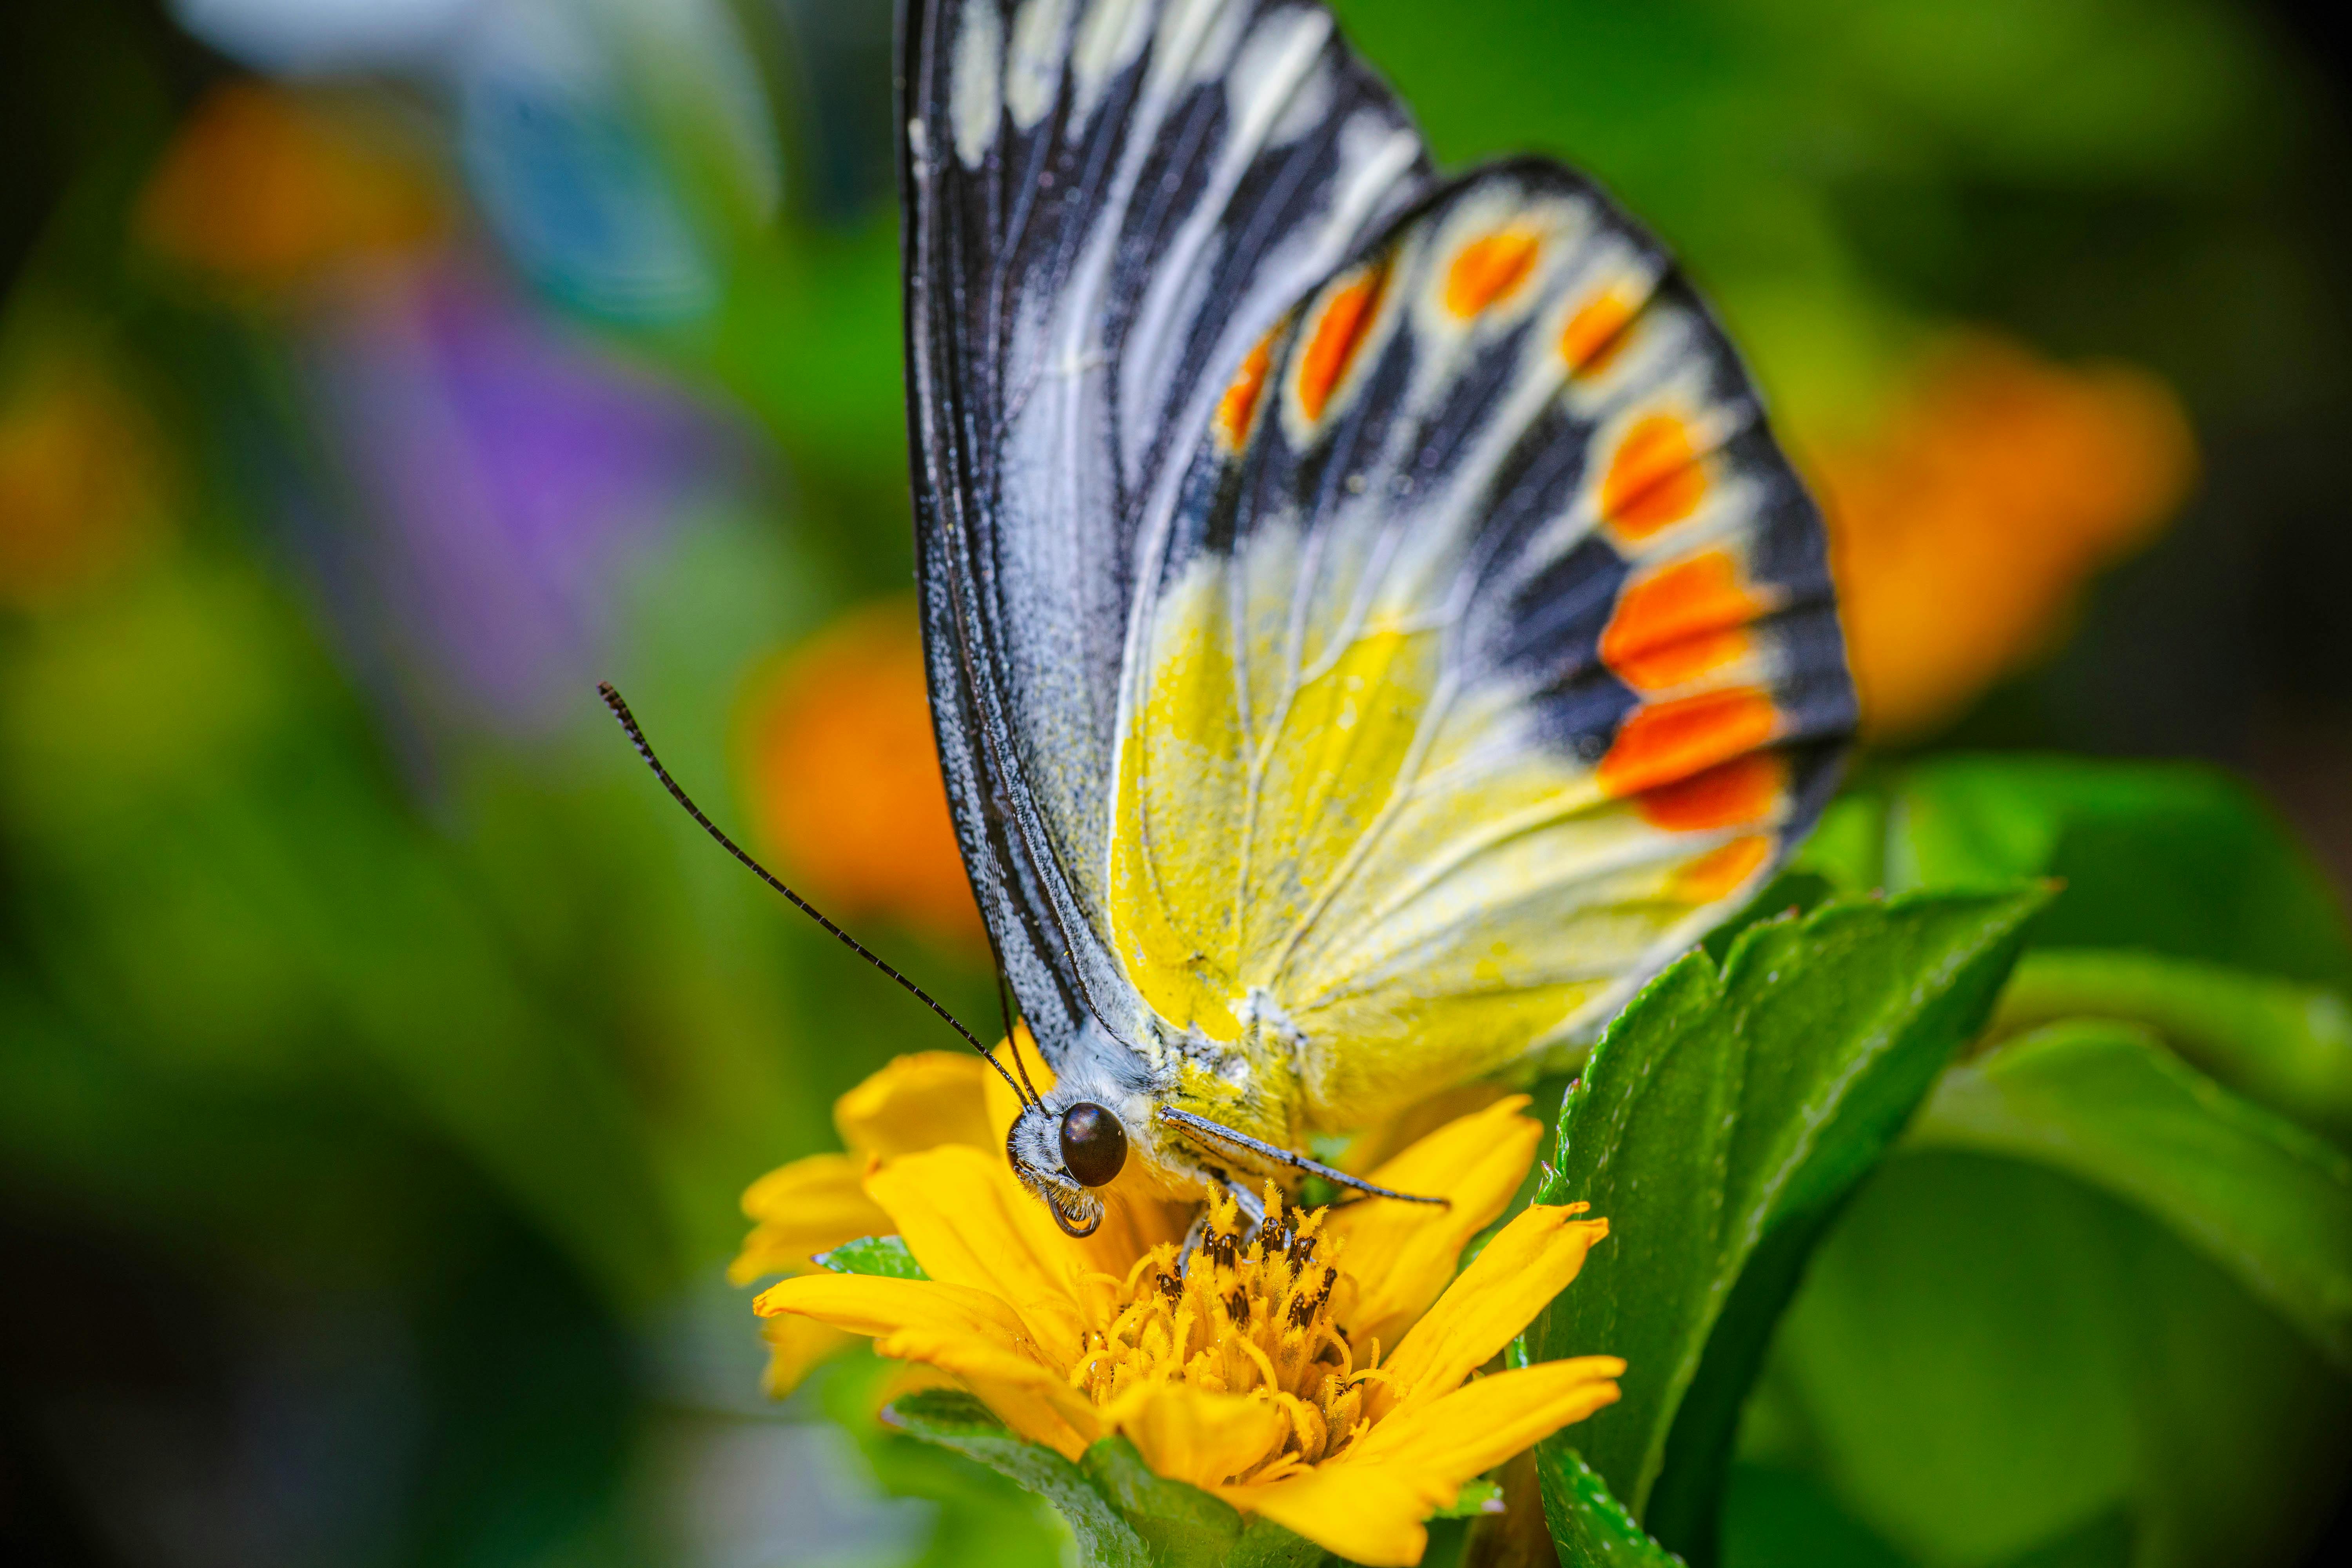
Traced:
<path fill-rule="evenodd" d="M 1004 1154 L 962 1145 L 906 1154 L 868 1173 L 866 1192 L 889 1211 L 924 1274 L 1002 1298 L 1068 1366 L 1084 1338 L 1077 1272 L 1094 1265 L 1014 1180 Z"/>

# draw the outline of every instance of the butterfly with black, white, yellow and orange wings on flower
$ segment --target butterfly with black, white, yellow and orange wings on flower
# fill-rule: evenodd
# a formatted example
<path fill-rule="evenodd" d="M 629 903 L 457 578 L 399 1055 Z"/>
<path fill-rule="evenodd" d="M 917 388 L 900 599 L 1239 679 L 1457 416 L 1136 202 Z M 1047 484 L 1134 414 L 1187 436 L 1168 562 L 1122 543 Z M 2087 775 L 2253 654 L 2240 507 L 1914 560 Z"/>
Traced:
<path fill-rule="evenodd" d="M 1322 5 L 901 52 L 934 726 L 1054 1070 L 1007 1152 L 1070 1234 L 1131 1159 L 1350 1182 L 1301 1150 L 1588 1037 L 1813 823 L 1820 515 L 1661 244 L 1439 179 Z"/>

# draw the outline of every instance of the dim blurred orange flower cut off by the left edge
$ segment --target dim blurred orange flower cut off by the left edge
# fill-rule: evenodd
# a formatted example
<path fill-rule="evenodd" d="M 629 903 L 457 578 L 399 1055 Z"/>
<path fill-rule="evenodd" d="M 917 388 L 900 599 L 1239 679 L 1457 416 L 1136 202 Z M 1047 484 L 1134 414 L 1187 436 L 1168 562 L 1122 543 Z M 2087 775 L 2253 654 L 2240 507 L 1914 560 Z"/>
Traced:
<path fill-rule="evenodd" d="M 87 353 L 33 355 L 0 393 L 0 604 L 103 578 L 165 517 L 167 463 L 139 400 Z"/>

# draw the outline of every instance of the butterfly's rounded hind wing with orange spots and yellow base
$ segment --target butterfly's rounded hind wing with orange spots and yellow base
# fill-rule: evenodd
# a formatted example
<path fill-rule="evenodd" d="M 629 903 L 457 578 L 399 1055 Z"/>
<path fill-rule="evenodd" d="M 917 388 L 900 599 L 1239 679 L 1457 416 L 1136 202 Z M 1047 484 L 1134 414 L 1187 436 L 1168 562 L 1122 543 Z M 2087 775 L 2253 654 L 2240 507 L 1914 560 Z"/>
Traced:
<path fill-rule="evenodd" d="M 1244 357 L 1138 564 L 1110 947 L 1362 1124 L 1606 1018 L 1853 726 L 1820 517 L 1653 240 L 1446 186 Z"/>

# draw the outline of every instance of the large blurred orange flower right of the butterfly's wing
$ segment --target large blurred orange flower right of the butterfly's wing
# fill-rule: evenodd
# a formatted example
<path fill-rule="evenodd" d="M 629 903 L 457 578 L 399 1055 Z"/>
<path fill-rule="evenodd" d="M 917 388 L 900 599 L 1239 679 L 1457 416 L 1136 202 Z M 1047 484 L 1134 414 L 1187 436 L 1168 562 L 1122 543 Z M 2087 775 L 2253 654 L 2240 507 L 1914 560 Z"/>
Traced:
<path fill-rule="evenodd" d="M 1919 736 L 2049 651 L 2194 468 L 2187 414 L 2147 371 L 1994 336 L 1929 355 L 1870 440 L 1813 454 L 1865 731 Z"/>

